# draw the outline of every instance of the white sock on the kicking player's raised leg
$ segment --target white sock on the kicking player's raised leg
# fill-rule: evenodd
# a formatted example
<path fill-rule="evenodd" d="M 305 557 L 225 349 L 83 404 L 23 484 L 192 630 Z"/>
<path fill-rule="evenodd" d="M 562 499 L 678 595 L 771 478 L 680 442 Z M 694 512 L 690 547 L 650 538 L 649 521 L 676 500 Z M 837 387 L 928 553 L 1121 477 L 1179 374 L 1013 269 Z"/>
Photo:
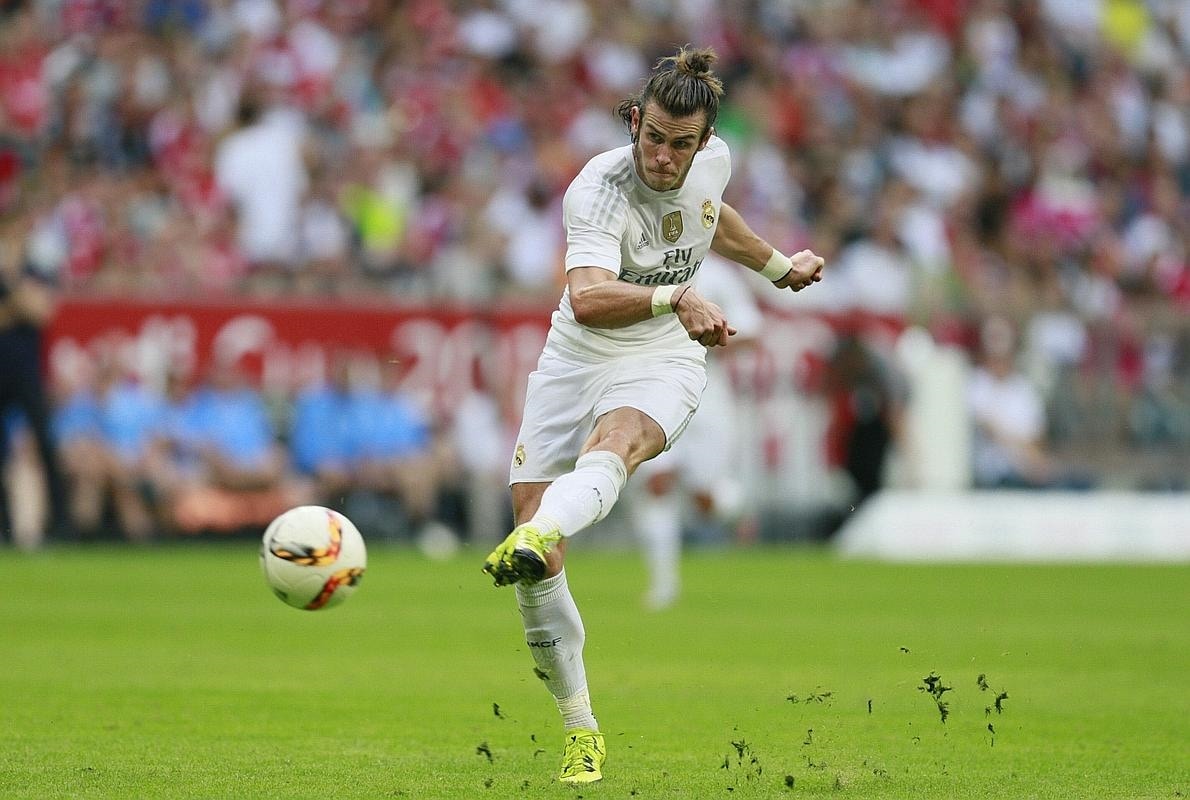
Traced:
<path fill-rule="evenodd" d="M 591 450 L 578 457 L 574 471 L 550 485 L 530 521 L 574 536 L 607 517 L 627 480 L 628 468 L 620 456 Z"/>

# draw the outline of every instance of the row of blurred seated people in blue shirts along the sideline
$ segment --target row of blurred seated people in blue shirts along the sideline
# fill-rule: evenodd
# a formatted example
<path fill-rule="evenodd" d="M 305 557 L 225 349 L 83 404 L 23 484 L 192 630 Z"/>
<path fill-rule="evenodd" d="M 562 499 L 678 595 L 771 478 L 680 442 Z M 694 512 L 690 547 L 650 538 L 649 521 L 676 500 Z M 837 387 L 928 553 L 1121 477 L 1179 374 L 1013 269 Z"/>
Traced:
<path fill-rule="evenodd" d="M 383 367 L 344 355 L 278 413 L 234 362 L 199 380 L 170 373 L 156 392 L 106 361 L 62 390 L 54 417 L 76 535 L 234 533 L 312 502 L 369 535 L 414 538 L 444 519 L 465 532 L 449 439 Z"/>

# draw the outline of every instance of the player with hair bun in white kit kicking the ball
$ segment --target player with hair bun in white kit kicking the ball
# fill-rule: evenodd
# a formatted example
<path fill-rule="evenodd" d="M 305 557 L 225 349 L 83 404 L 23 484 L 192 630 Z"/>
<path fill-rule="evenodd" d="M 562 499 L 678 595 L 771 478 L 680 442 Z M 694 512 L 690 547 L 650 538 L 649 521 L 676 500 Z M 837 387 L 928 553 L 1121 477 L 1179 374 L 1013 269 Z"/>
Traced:
<path fill-rule="evenodd" d="M 714 136 L 714 61 L 713 50 L 687 48 L 659 61 L 618 110 L 631 144 L 591 158 L 566 190 L 566 288 L 528 376 L 509 475 L 516 527 L 483 565 L 496 586 L 515 585 L 534 673 L 562 713 L 568 783 L 600 780 L 606 750 L 563 570 L 566 539 L 681 436 L 706 385 L 706 349 L 735 332 L 691 279 L 708 250 L 781 289 L 822 275 L 822 258 L 782 255 L 722 201 L 731 156 Z"/>

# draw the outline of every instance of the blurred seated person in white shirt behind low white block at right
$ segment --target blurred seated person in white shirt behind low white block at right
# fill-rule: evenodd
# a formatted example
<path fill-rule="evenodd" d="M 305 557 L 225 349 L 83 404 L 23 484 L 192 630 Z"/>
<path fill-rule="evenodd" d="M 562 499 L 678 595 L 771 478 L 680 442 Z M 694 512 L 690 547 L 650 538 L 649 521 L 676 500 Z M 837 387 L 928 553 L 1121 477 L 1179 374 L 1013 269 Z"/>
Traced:
<path fill-rule="evenodd" d="M 1046 445 L 1041 395 L 1016 367 L 1016 332 L 992 317 L 981 329 L 981 363 L 967 402 L 975 424 L 973 476 L 978 488 L 1090 488 L 1091 480 L 1060 467 Z"/>

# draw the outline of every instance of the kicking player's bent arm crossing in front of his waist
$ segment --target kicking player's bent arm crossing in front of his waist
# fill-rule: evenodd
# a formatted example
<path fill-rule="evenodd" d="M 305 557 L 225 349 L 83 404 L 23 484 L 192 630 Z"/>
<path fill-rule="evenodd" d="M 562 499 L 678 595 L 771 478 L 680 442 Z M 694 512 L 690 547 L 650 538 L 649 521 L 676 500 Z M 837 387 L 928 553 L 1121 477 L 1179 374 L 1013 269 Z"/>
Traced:
<path fill-rule="evenodd" d="M 675 313 L 691 339 L 707 346 L 727 344 L 735 329 L 727 324 L 724 312 L 704 300 L 691 286 L 663 287 L 672 289 L 668 310 L 654 311 L 657 287 L 637 286 L 619 281 L 615 274 L 601 267 L 575 267 L 566 273 L 570 287 L 570 307 L 575 320 L 588 327 L 627 327 L 659 314 Z"/>

